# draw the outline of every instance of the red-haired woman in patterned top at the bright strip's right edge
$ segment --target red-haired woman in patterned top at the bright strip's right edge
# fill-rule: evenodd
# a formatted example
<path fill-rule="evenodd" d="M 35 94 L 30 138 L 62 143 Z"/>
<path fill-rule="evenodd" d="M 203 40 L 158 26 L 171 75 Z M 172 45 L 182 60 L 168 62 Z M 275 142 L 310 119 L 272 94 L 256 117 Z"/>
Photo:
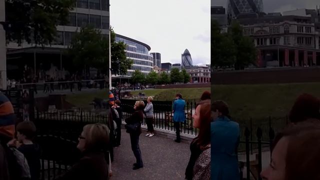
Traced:
<path fill-rule="evenodd" d="M 193 127 L 199 128 L 198 136 L 190 144 L 190 159 L 185 169 L 185 179 L 210 179 L 210 100 L 200 101 L 192 115 Z"/>

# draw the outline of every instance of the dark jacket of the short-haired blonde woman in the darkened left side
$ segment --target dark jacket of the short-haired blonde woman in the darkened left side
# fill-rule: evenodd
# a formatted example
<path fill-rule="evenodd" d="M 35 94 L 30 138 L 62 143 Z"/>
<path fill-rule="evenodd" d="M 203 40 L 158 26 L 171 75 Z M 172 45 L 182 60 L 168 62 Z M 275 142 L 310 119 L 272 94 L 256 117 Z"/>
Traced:
<path fill-rule="evenodd" d="M 85 153 L 70 170 L 55 180 L 107 180 L 109 179 L 108 165 L 103 152 Z"/>

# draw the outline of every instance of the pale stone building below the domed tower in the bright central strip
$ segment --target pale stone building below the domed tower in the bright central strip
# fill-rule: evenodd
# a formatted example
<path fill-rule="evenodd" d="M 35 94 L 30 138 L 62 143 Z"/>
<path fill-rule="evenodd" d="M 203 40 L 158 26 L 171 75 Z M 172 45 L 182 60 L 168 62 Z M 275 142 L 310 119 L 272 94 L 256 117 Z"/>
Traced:
<path fill-rule="evenodd" d="M 194 65 L 185 70 L 190 74 L 193 83 L 211 81 L 210 65 Z"/>

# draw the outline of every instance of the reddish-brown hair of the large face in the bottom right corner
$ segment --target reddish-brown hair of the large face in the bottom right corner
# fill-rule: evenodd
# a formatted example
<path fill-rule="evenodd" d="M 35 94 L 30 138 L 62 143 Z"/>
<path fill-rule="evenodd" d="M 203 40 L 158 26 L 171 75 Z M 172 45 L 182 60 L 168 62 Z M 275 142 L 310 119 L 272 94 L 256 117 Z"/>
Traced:
<path fill-rule="evenodd" d="M 276 135 L 271 152 L 282 137 L 288 140 L 285 180 L 320 179 L 317 168 L 320 161 L 320 121 L 306 119 L 289 124 Z"/>

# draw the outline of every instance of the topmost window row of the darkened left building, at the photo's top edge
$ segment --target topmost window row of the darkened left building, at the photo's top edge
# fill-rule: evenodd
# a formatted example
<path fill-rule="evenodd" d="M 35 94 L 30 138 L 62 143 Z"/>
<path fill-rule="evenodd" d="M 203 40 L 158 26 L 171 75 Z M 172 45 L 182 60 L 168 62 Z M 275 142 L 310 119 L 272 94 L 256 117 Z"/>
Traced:
<path fill-rule="evenodd" d="M 76 0 L 76 7 L 109 11 L 109 0 Z"/>

